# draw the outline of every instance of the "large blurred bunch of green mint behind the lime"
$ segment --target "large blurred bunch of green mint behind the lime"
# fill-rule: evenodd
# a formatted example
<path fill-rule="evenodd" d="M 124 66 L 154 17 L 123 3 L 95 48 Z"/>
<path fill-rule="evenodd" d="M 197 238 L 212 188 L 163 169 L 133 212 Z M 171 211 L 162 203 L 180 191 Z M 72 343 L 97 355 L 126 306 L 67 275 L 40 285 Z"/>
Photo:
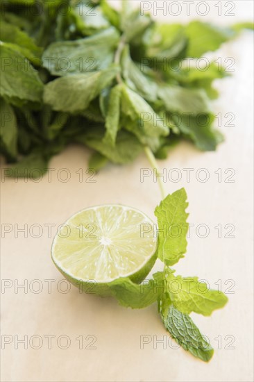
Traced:
<path fill-rule="evenodd" d="M 214 150 L 212 81 L 226 72 L 181 63 L 243 26 L 252 27 L 158 24 L 127 1 L 120 11 L 105 0 L 1 2 L 0 148 L 10 176 L 45 172 L 71 142 L 94 149 L 95 169 L 128 163 L 144 146 L 166 158 L 181 139 Z"/>

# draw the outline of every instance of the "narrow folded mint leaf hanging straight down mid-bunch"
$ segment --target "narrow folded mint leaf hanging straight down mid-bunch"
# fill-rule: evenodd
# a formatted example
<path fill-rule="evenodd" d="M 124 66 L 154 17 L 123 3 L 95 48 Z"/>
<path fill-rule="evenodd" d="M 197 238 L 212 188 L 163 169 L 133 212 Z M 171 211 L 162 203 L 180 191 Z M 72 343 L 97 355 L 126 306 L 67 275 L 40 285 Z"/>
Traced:
<path fill-rule="evenodd" d="M 116 85 L 110 90 L 108 110 L 105 115 L 105 142 L 112 146 L 115 145 L 117 131 L 119 130 L 120 111 L 121 111 L 121 90 L 122 85 Z"/>

